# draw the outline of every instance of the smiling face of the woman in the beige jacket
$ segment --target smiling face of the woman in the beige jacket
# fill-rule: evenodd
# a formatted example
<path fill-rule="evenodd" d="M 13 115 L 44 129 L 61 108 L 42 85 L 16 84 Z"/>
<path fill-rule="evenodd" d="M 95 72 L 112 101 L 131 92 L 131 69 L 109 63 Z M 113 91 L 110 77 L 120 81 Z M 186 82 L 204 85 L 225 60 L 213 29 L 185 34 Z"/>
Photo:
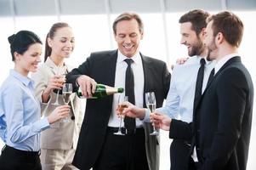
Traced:
<path fill-rule="evenodd" d="M 71 28 L 59 28 L 53 38 L 48 37 L 48 45 L 52 48 L 51 56 L 69 57 L 75 48 L 75 37 Z"/>

